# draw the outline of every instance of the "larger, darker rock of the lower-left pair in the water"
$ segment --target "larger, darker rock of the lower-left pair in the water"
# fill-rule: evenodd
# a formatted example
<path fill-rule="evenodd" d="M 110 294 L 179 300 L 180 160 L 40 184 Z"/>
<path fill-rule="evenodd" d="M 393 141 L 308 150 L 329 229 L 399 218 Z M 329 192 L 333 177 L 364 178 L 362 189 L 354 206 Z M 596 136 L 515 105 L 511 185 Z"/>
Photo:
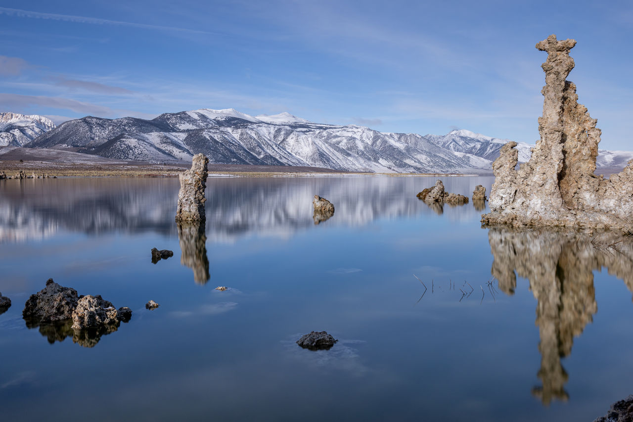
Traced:
<path fill-rule="evenodd" d="M 49 278 L 46 288 L 28 298 L 22 316 L 27 321 L 27 326 L 70 319 L 78 300 L 77 290 L 62 287 Z"/>

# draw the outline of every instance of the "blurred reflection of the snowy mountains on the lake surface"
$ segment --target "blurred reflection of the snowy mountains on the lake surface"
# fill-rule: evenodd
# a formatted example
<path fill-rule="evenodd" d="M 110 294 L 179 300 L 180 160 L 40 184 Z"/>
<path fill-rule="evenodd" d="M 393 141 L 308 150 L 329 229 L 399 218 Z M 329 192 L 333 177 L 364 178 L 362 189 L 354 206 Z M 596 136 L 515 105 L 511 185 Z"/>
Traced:
<path fill-rule="evenodd" d="M 234 241 L 247 235 L 291 236 L 313 226 L 314 195 L 328 198 L 336 217 L 361 226 L 375 219 L 432 214 L 415 193 L 437 177 L 211 177 L 206 189 L 207 236 Z M 446 189 L 470 195 L 492 177 L 443 177 Z M 87 234 L 154 231 L 177 234 L 173 223 L 178 179 L 36 179 L 0 186 L 0 243 L 40 240 L 59 230 Z M 449 219 L 479 219 L 472 207 Z"/>

